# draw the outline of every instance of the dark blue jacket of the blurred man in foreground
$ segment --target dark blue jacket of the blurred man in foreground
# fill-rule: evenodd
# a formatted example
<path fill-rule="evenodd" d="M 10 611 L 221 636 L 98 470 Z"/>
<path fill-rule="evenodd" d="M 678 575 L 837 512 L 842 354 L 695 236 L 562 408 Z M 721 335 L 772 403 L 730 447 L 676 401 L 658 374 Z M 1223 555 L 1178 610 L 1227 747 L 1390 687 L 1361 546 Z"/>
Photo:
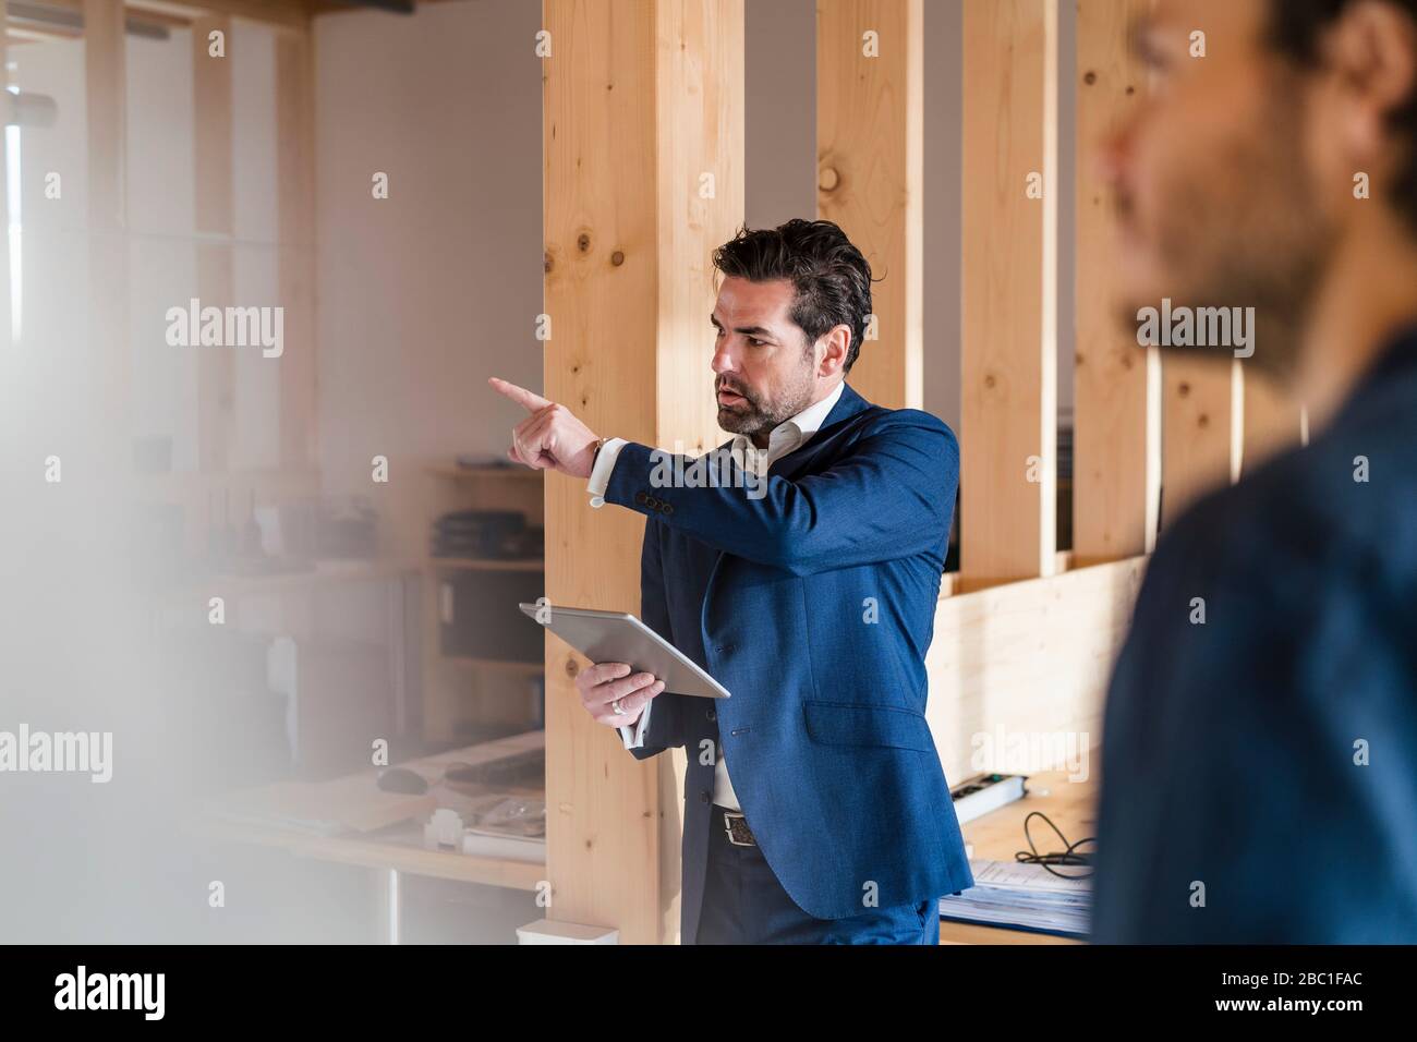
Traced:
<path fill-rule="evenodd" d="M 1417 330 L 1161 540 L 1097 836 L 1098 941 L 1417 941 Z"/>

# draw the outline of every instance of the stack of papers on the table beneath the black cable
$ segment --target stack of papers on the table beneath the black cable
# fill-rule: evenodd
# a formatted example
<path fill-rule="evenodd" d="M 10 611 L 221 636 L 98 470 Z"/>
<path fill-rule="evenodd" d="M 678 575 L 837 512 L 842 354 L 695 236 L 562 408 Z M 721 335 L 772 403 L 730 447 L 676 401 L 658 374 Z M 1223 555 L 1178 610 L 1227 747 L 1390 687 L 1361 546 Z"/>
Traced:
<path fill-rule="evenodd" d="M 1091 880 L 1060 879 L 1043 865 L 1013 861 L 969 863 L 975 885 L 939 899 L 939 917 L 959 923 L 1002 926 L 1085 937 L 1093 903 Z M 1083 866 L 1058 866 L 1064 875 L 1084 875 Z"/>

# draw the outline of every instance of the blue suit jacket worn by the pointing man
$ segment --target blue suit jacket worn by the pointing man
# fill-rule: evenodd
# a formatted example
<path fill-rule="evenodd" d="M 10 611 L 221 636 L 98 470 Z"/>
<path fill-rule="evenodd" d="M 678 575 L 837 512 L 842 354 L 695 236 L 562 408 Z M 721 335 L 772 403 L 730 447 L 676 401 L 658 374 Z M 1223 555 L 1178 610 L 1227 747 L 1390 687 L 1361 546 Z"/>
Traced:
<path fill-rule="evenodd" d="M 762 853 L 809 914 L 845 919 L 869 902 L 971 886 L 925 723 L 924 659 L 959 478 L 954 434 L 846 387 L 816 435 L 772 465 L 762 498 L 656 488 L 656 459 L 625 445 L 605 491 L 649 519 L 642 618 L 733 693 L 660 695 L 633 750 L 687 750 L 684 943 L 714 827 L 713 757 L 700 753 L 718 746 L 706 741 L 721 741 Z"/>

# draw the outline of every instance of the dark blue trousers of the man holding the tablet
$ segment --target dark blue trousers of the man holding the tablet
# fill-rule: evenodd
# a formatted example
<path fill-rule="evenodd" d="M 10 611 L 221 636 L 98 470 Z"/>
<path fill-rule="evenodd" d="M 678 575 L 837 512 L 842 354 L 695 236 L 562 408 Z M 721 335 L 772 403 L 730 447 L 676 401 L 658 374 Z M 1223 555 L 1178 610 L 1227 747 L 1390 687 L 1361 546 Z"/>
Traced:
<path fill-rule="evenodd" d="M 788 896 L 757 846 L 728 842 L 723 807 L 713 808 L 708 872 L 694 944 L 938 944 L 939 902 L 863 909 L 813 919 Z"/>

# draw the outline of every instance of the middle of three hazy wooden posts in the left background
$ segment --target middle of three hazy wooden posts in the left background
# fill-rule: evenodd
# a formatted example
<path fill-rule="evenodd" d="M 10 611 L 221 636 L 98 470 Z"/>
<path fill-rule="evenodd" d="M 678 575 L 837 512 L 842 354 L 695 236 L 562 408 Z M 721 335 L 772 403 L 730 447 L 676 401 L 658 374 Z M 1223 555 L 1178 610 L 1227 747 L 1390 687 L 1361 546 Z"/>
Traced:
<path fill-rule="evenodd" d="M 225 37 L 224 57 L 213 57 L 208 37 Z M 232 269 L 234 166 L 231 99 L 231 18 L 191 24 L 193 147 L 197 213 L 197 296 L 203 308 L 235 303 Z M 208 349 L 197 354 L 197 465 L 204 474 L 227 469 L 235 434 L 235 354 Z"/>

